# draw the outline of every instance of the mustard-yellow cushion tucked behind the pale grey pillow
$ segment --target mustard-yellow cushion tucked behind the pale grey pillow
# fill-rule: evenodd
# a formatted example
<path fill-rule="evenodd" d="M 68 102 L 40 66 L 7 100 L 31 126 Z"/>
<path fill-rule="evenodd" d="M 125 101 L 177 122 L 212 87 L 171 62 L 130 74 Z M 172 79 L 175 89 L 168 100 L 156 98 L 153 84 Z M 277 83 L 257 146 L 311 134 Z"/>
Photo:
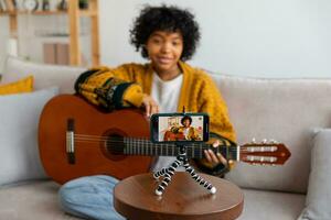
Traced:
<path fill-rule="evenodd" d="M 33 76 L 7 85 L 0 85 L 0 95 L 33 91 Z"/>

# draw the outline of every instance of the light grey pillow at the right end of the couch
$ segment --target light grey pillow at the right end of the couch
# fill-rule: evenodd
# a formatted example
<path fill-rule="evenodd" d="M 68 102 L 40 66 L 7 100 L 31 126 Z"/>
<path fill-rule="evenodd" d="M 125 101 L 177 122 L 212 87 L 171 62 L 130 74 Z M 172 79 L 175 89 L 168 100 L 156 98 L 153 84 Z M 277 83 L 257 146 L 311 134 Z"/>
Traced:
<path fill-rule="evenodd" d="M 299 219 L 331 219 L 331 129 L 317 131 L 311 152 L 306 208 Z"/>

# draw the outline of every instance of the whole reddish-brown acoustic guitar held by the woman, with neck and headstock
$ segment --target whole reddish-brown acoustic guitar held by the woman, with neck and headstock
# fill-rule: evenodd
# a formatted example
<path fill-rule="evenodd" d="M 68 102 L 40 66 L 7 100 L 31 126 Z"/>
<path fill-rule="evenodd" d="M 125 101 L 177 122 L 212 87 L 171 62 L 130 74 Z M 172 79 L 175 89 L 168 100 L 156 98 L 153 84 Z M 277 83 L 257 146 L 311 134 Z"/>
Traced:
<path fill-rule="evenodd" d="M 74 95 L 60 95 L 44 107 L 39 124 L 39 147 L 46 174 L 55 182 L 106 174 L 122 179 L 149 172 L 156 155 L 177 156 L 173 144 L 149 141 L 149 122 L 134 109 L 104 112 Z M 189 158 L 202 158 L 212 148 L 228 160 L 281 165 L 290 152 L 281 143 L 248 143 L 212 147 L 200 143 L 186 147 Z"/>

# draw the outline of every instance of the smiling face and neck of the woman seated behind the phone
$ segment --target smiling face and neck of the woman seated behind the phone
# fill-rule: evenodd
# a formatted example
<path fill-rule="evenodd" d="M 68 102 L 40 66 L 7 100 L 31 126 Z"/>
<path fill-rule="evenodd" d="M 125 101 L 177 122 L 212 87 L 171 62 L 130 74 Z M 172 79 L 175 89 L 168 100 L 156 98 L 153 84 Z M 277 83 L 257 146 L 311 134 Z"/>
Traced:
<path fill-rule="evenodd" d="M 153 69 L 163 80 L 180 74 L 178 62 L 183 53 L 183 37 L 179 32 L 153 32 L 146 44 Z"/>

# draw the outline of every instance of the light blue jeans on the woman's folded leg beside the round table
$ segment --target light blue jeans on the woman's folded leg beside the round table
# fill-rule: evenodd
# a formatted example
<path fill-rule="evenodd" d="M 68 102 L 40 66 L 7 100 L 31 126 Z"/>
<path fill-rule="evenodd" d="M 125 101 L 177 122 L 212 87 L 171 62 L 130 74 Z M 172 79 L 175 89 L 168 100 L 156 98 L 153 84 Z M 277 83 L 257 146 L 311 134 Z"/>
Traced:
<path fill-rule="evenodd" d="M 113 190 L 118 180 L 111 176 L 86 176 L 64 184 L 58 193 L 63 210 L 86 219 L 125 219 L 114 209 Z"/>

